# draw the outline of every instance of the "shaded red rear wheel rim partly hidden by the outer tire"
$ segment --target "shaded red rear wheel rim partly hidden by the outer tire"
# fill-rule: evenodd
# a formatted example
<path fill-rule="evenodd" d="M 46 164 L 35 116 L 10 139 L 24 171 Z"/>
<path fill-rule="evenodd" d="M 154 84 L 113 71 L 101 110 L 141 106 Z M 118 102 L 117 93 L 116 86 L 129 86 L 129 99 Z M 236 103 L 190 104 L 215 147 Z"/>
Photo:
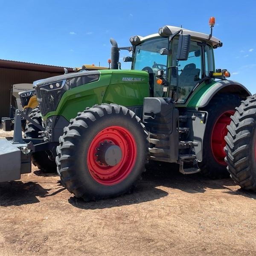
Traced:
<path fill-rule="evenodd" d="M 227 135 L 227 125 L 231 122 L 230 116 L 233 116 L 234 113 L 235 111 L 233 110 L 222 113 L 213 125 L 211 137 L 212 154 L 215 160 L 221 165 L 227 165 L 224 160 L 226 157 L 224 151 L 226 145 L 225 136 Z"/>

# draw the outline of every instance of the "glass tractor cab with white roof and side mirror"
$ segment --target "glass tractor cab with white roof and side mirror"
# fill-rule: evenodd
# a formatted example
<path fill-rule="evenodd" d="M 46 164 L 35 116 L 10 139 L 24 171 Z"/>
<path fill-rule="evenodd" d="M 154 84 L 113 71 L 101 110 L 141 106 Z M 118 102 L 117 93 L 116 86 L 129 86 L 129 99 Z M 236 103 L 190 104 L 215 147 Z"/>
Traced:
<path fill-rule="evenodd" d="M 130 41 L 131 69 L 149 73 L 151 97 L 170 97 L 179 104 L 186 103 L 196 85 L 214 73 L 213 48 L 222 46 L 211 35 L 175 26 Z"/>

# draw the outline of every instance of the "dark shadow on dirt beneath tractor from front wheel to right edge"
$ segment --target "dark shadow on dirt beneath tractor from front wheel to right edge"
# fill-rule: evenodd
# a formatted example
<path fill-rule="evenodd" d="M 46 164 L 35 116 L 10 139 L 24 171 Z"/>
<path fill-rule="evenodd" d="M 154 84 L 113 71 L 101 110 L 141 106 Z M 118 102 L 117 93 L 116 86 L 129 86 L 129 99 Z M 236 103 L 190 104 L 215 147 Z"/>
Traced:
<path fill-rule="evenodd" d="M 236 187 L 233 188 L 233 186 Z M 204 193 L 207 189 L 221 189 L 224 190 L 222 191 L 223 193 L 256 199 L 256 193 L 244 192 L 242 189 L 237 189 L 237 184 L 231 178 L 210 180 L 203 177 L 200 173 L 183 175 L 178 171 L 177 165 L 164 164 L 162 166 L 148 168 L 143 173 L 143 179 L 138 182 L 132 194 L 87 203 L 82 199 L 72 196 L 68 201 L 73 207 L 80 209 L 104 209 L 154 201 L 175 193 L 166 192 L 160 187 L 178 189 L 190 194 Z"/>

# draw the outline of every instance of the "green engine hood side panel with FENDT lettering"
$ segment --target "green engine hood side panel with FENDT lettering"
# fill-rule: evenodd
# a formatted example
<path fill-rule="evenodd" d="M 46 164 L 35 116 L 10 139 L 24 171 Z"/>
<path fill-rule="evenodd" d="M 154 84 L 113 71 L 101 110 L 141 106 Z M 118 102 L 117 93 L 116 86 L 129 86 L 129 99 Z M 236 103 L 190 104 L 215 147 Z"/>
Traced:
<path fill-rule="evenodd" d="M 148 73 L 137 70 L 101 70 L 98 81 L 84 84 L 63 94 L 56 111 L 43 116 L 64 116 L 67 121 L 79 111 L 95 104 L 116 103 L 119 105 L 143 105 L 149 96 Z"/>

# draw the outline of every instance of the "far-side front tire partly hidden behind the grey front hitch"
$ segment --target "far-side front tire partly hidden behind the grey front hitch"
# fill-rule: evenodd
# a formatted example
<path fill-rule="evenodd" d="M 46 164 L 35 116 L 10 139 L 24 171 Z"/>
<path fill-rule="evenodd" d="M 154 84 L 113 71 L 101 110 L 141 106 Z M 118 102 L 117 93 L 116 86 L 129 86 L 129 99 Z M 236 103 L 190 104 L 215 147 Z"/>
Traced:
<path fill-rule="evenodd" d="M 39 108 L 34 108 L 30 113 L 29 117 L 37 122 L 39 125 L 42 125 L 42 119 Z M 38 138 L 38 132 L 40 130 L 33 125 L 31 122 L 26 122 L 24 137 L 27 139 L 36 139 Z M 48 156 L 51 156 L 50 151 L 39 151 L 31 154 L 31 162 L 34 166 L 37 166 L 44 173 L 56 172 L 57 166 L 55 161 L 49 159 Z"/>

